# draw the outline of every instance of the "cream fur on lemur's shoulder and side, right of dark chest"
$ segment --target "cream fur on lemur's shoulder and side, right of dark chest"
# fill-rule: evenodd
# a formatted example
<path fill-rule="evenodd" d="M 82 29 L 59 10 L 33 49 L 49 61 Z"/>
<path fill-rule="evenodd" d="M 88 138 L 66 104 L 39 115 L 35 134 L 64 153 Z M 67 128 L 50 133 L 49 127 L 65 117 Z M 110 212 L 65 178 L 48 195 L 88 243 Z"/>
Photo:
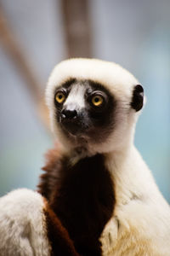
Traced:
<path fill-rule="evenodd" d="M 106 156 L 116 207 L 100 241 L 104 256 L 170 255 L 170 207 L 133 144 Z"/>

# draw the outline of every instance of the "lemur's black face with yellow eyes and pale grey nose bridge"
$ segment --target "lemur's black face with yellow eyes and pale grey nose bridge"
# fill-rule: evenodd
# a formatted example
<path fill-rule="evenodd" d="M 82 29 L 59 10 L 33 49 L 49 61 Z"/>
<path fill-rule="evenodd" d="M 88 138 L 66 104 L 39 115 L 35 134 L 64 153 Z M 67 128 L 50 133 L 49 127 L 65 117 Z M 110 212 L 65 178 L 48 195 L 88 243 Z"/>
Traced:
<path fill-rule="evenodd" d="M 74 104 L 71 90 L 75 85 L 82 87 L 83 108 L 79 108 L 77 102 Z M 73 100 L 67 106 L 69 96 Z M 116 102 L 102 84 L 71 79 L 56 90 L 54 103 L 57 122 L 67 137 L 90 138 L 99 143 L 113 130 Z"/>

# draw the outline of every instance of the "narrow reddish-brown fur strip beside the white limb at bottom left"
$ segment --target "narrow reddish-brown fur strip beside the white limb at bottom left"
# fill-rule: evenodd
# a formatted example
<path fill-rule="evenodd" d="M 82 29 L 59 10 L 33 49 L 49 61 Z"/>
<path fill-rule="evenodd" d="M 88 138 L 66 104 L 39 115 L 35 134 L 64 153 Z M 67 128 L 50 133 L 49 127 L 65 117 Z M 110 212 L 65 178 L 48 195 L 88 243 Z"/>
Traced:
<path fill-rule="evenodd" d="M 46 219 L 48 240 L 52 248 L 51 256 L 79 256 L 67 230 L 65 230 L 54 211 L 48 206 L 47 201 L 45 201 L 43 212 Z"/>

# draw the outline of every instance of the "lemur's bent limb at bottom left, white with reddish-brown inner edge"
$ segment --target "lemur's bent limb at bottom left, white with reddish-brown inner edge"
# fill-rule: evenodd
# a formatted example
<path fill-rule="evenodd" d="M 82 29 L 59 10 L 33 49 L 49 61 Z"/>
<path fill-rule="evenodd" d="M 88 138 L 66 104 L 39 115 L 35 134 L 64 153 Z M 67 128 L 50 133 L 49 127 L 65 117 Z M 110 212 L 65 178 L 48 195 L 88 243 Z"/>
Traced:
<path fill-rule="evenodd" d="M 78 256 L 42 195 L 17 189 L 0 198 L 0 255 Z"/>

